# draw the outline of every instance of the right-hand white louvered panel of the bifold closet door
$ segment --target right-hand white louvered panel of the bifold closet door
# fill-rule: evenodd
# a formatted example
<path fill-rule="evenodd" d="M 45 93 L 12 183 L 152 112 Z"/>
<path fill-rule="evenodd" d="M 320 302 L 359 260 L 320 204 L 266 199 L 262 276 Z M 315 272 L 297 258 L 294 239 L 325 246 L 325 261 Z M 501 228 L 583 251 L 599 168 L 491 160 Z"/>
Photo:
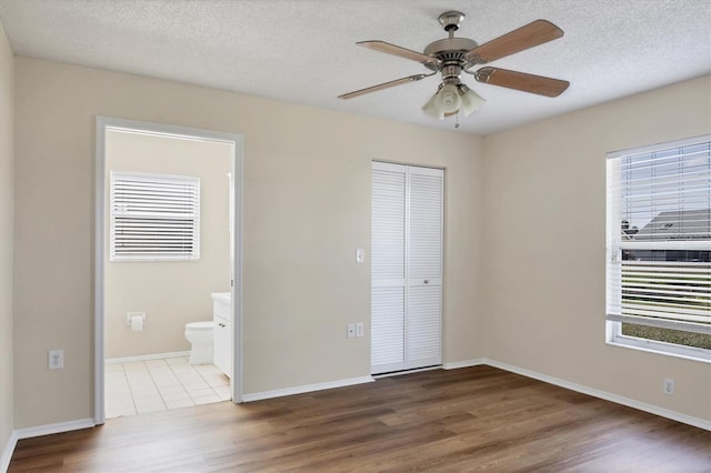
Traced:
<path fill-rule="evenodd" d="M 408 369 L 442 363 L 442 198 L 444 171 L 409 168 Z"/>

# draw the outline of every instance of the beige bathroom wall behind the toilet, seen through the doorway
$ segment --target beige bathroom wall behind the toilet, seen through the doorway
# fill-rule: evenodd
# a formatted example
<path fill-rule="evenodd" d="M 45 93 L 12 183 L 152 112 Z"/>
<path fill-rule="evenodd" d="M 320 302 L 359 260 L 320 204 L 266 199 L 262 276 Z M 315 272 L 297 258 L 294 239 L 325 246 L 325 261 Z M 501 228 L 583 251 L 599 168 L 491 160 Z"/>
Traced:
<path fill-rule="evenodd" d="M 106 356 L 123 358 L 190 350 L 188 322 L 212 320 L 212 292 L 230 290 L 229 180 L 232 145 L 150 134 L 107 131 L 104 324 Z M 200 259 L 109 259 L 111 171 L 200 178 Z M 133 332 L 127 312 L 146 312 Z"/>

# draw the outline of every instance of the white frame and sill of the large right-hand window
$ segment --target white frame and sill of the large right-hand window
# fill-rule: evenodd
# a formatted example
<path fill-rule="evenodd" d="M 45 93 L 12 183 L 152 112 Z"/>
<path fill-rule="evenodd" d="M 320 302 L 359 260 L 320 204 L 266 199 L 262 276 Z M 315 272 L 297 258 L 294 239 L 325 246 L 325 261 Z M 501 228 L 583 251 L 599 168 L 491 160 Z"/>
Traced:
<path fill-rule="evenodd" d="M 703 142 L 711 142 L 711 134 L 675 140 L 675 141 L 664 142 L 664 143 L 657 143 L 652 145 L 632 148 L 627 150 L 613 151 L 608 153 L 607 171 L 605 171 L 605 177 L 607 177 L 607 180 L 605 180 L 605 184 L 607 184 L 607 188 L 605 188 L 607 189 L 605 191 L 605 222 L 607 222 L 607 229 L 605 229 L 605 242 L 607 242 L 605 244 L 605 343 L 610 345 L 623 346 L 623 348 L 641 350 L 641 351 L 647 351 L 647 352 L 652 352 L 652 353 L 658 353 L 663 355 L 682 358 L 687 360 L 711 363 L 711 350 L 700 349 L 695 346 L 687 346 L 687 345 L 681 345 L 675 343 L 668 343 L 668 342 L 662 342 L 658 340 L 641 339 L 641 338 L 631 336 L 631 335 L 623 335 L 622 322 L 630 322 L 630 316 L 609 313 L 610 301 L 611 301 L 611 298 L 613 296 L 612 294 L 613 283 L 611 279 L 614 278 L 611 274 L 610 263 L 613 262 L 615 259 L 615 255 L 614 255 L 615 250 L 620 250 L 620 245 L 614 244 L 614 239 L 612 236 L 613 234 L 612 232 L 619 231 L 619 228 L 620 228 L 620 222 L 618 219 L 618 217 L 620 217 L 620 212 L 619 210 L 615 210 L 613 208 L 613 205 L 619 204 L 619 202 L 618 201 L 612 202 L 610 199 L 610 189 L 615 179 L 615 177 L 612 175 L 613 172 L 611 172 L 610 170 L 610 165 L 609 165 L 610 160 L 622 158 L 630 154 L 643 154 L 643 153 L 661 151 L 670 148 L 682 148 L 685 145 L 703 143 Z M 652 243 L 652 242 L 649 242 L 649 243 Z M 625 243 L 625 245 L 629 246 L 631 244 Z M 637 242 L 637 243 L 633 243 L 632 245 L 649 246 L 650 244 L 648 244 L 647 242 Z M 708 248 L 708 242 L 707 241 L 679 241 L 679 242 L 671 243 L 671 245 L 679 246 L 679 249 L 683 249 L 683 250 L 697 250 L 697 249 L 705 250 Z M 620 289 L 621 289 L 621 285 L 620 285 Z M 660 321 L 659 324 L 649 323 L 649 321 L 647 322 L 648 322 L 647 325 L 679 330 L 679 328 L 672 326 L 674 325 L 673 322 Z M 631 322 L 631 323 L 634 323 L 634 322 Z"/>

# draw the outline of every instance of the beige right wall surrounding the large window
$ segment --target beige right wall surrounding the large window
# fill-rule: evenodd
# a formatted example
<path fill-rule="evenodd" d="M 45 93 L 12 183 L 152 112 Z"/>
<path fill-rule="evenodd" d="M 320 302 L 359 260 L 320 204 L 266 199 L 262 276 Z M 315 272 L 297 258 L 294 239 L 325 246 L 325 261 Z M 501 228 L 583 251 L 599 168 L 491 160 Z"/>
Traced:
<path fill-rule="evenodd" d="M 709 133 L 710 98 L 705 77 L 487 137 L 488 358 L 711 420 L 708 363 L 604 343 L 605 153 Z"/>

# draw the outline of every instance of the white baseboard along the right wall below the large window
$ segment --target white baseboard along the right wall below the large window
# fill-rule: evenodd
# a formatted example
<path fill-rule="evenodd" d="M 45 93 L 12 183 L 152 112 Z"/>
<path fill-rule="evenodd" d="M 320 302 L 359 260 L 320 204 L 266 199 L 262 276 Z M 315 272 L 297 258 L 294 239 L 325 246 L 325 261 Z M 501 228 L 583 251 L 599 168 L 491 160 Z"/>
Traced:
<path fill-rule="evenodd" d="M 543 381 L 544 383 L 554 384 L 557 386 L 565 388 L 571 391 L 588 394 L 593 397 L 600 397 L 605 401 L 611 401 L 617 404 L 627 405 L 628 407 L 638 409 L 640 411 L 649 412 L 654 415 L 671 419 L 672 421 L 681 422 L 684 424 L 693 425 L 694 427 L 704 429 L 711 431 L 711 421 L 705 419 L 694 417 L 692 415 L 682 414 L 680 412 L 670 411 L 669 409 L 659 407 L 657 405 L 647 404 L 644 402 L 635 401 L 633 399 L 624 397 L 621 395 L 612 394 L 605 391 L 595 390 L 593 388 L 583 386 L 581 384 L 571 383 L 569 381 L 560 380 L 558 378 L 549 376 L 547 374 L 537 373 L 519 366 L 512 366 L 510 364 L 501 363 L 495 360 L 484 360 L 489 366 L 498 368 L 500 370 L 510 371 L 512 373 L 521 374 L 527 378 Z"/>

